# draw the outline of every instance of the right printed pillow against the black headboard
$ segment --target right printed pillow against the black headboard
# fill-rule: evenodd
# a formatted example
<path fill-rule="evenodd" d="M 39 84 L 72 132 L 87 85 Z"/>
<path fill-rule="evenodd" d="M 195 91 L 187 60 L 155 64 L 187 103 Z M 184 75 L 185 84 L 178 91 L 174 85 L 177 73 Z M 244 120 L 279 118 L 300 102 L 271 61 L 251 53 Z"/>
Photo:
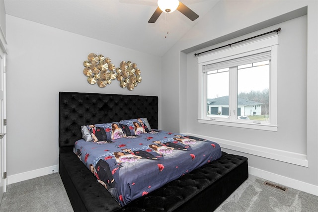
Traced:
<path fill-rule="evenodd" d="M 129 128 L 131 135 L 139 135 L 151 131 L 147 118 L 121 120 L 119 124 L 122 126 L 126 125 Z"/>

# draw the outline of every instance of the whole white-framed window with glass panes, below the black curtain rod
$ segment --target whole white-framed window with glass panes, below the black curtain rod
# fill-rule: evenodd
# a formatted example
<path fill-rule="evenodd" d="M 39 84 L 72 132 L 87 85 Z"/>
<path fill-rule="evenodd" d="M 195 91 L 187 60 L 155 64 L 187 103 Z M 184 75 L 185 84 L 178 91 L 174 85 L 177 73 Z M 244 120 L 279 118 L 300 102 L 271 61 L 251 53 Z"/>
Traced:
<path fill-rule="evenodd" d="M 199 122 L 277 131 L 278 35 L 201 56 Z"/>

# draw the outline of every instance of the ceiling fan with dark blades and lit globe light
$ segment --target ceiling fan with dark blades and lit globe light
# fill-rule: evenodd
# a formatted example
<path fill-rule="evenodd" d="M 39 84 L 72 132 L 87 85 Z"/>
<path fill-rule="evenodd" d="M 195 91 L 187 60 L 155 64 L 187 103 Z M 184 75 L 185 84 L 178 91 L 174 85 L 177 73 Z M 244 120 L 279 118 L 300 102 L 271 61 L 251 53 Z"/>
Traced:
<path fill-rule="evenodd" d="M 162 12 L 169 13 L 176 9 L 192 21 L 199 17 L 197 13 L 178 0 L 158 0 L 158 7 L 149 19 L 148 23 L 155 23 Z"/>

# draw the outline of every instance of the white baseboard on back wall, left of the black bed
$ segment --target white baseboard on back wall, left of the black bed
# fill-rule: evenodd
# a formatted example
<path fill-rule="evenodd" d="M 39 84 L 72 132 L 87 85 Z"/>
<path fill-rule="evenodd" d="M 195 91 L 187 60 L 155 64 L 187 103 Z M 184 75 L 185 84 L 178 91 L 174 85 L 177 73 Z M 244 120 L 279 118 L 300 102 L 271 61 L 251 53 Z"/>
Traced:
<path fill-rule="evenodd" d="M 49 166 L 41 169 L 36 169 L 32 171 L 27 171 L 19 174 L 9 175 L 7 176 L 7 185 L 12 183 L 21 182 L 24 180 L 29 180 L 36 177 L 41 177 L 47 174 L 52 174 L 55 172 L 59 172 L 59 165 Z"/>

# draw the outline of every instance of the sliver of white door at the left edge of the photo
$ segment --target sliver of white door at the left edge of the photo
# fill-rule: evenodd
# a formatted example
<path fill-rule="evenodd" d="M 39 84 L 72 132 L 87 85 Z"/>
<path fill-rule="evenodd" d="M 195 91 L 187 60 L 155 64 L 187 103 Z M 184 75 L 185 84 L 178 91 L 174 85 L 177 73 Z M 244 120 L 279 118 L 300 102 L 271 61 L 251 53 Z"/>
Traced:
<path fill-rule="evenodd" d="M 0 46 L 0 202 L 6 189 L 5 55 Z"/>

